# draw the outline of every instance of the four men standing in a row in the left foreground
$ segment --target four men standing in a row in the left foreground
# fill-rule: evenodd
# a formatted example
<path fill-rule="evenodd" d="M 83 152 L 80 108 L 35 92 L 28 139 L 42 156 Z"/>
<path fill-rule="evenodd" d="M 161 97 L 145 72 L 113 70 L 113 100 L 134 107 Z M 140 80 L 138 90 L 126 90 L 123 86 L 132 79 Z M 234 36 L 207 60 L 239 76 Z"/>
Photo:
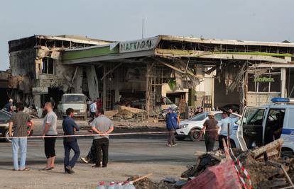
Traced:
<path fill-rule="evenodd" d="M 12 149 L 13 149 L 13 170 L 14 171 L 28 171 L 30 170 L 26 167 L 26 150 L 27 150 L 27 136 L 31 130 L 33 130 L 34 122 L 31 119 L 30 115 L 23 112 L 24 105 L 23 103 L 16 103 L 16 113 L 13 113 L 11 120 L 9 120 L 9 136 L 12 137 L 12 128 L 13 128 L 13 137 L 12 137 Z M 44 149 L 45 156 L 47 159 L 47 164 L 45 168 L 40 171 L 50 171 L 55 168 L 55 142 L 58 136 L 57 132 L 57 115 L 53 112 L 52 103 L 45 103 L 45 111 L 47 114 L 43 120 L 43 140 L 44 140 Z M 77 144 L 77 138 L 75 132 L 80 130 L 80 127 L 75 123 L 74 110 L 68 108 L 66 110 L 66 117 L 62 121 L 62 129 L 65 137 L 63 137 L 63 146 L 65 149 L 65 158 L 64 158 L 64 168 L 65 173 L 75 173 L 73 170 L 77 159 L 80 156 L 80 148 Z M 108 164 L 108 148 L 109 148 L 109 134 L 114 130 L 114 125 L 104 116 L 104 110 L 99 108 L 95 114 L 95 118 L 91 124 L 92 130 L 95 134 L 93 139 L 94 149 L 97 154 L 97 159 L 95 160 L 94 167 L 107 167 Z M 27 122 L 31 122 L 30 130 L 27 130 Z M 21 161 L 18 165 L 18 149 L 21 151 Z M 75 152 L 74 156 L 70 160 L 70 151 Z M 102 153 L 101 153 L 102 151 Z M 103 154 L 103 158 L 102 155 Z"/>

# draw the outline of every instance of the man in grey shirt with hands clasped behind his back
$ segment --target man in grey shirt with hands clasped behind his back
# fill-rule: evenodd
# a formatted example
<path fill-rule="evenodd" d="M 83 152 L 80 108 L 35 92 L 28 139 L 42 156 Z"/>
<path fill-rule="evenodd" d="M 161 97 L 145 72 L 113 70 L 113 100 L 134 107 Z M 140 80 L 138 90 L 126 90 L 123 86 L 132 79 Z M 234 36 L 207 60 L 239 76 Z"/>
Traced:
<path fill-rule="evenodd" d="M 109 134 L 114 130 L 113 122 L 104 115 L 104 110 L 100 108 L 98 110 L 98 117 L 95 118 L 92 122 L 93 132 L 99 134 L 94 136 L 93 143 L 96 149 L 96 162 L 93 167 L 101 166 L 101 155 L 102 158 L 102 167 L 107 167 L 108 164 L 108 149 L 109 149 Z M 101 153 L 102 151 L 102 153 Z"/>

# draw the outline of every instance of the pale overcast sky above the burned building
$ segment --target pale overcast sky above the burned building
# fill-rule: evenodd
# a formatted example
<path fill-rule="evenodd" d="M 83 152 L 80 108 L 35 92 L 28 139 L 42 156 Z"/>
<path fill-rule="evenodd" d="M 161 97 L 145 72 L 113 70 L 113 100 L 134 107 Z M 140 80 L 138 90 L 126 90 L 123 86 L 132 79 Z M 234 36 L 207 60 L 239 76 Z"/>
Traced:
<path fill-rule="evenodd" d="M 0 6 L 0 70 L 8 41 L 31 35 L 134 40 L 155 35 L 294 42 L 293 0 L 27 0 Z"/>

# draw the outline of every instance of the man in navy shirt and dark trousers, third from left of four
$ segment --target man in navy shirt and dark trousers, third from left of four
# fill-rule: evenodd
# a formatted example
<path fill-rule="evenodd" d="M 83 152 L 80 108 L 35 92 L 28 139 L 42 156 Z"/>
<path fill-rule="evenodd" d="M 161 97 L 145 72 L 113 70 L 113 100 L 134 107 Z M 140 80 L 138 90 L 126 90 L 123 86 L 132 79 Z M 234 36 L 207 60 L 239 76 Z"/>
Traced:
<path fill-rule="evenodd" d="M 75 131 L 79 131 L 80 127 L 75 123 L 75 120 L 72 118 L 74 117 L 74 110 L 72 108 L 68 108 L 66 110 L 65 119 L 62 122 L 62 128 L 65 132 L 65 135 L 74 135 Z M 77 138 L 76 137 L 64 137 L 63 138 L 63 146 L 65 148 L 65 173 L 75 173 L 73 171 L 73 167 L 75 166 L 75 163 L 77 162 L 77 159 L 80 156 L 80 148 L 79 145 L 77 145 Z M 75 155 L 70 160 L 70 150 L 75 151 Z"/>

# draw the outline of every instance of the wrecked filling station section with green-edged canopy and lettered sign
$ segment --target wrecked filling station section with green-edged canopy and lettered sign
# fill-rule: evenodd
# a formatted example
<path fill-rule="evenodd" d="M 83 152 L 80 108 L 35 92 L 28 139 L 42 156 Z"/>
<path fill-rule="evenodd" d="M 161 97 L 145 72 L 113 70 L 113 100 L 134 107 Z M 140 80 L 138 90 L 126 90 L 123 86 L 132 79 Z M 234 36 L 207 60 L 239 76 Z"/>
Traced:
<path fill-rule="evenodd" d="M 97 79 L 102 84 L 99 90 L 107 110 L 117 102 L 134 102 L 131 106 L 153 115 L 160 112 L 168 99 L 168 103 L 182 106 L 183 113 L 187 113 L 185 108 L 189 106 L 212 110 L 227 104 L 238 106 L 240 112 L 244 105 L 268 103 L 274 96 L 290 96 L 293 52 L 291 43 L 158 35 L 65 50 L 62 63 L 100 69 Z M 268 70 L 263 75 L 276 83 L 258 89 L 266 81 L 259 69 Z M 141 106 L 136 102 L 141 102 Z"/>

